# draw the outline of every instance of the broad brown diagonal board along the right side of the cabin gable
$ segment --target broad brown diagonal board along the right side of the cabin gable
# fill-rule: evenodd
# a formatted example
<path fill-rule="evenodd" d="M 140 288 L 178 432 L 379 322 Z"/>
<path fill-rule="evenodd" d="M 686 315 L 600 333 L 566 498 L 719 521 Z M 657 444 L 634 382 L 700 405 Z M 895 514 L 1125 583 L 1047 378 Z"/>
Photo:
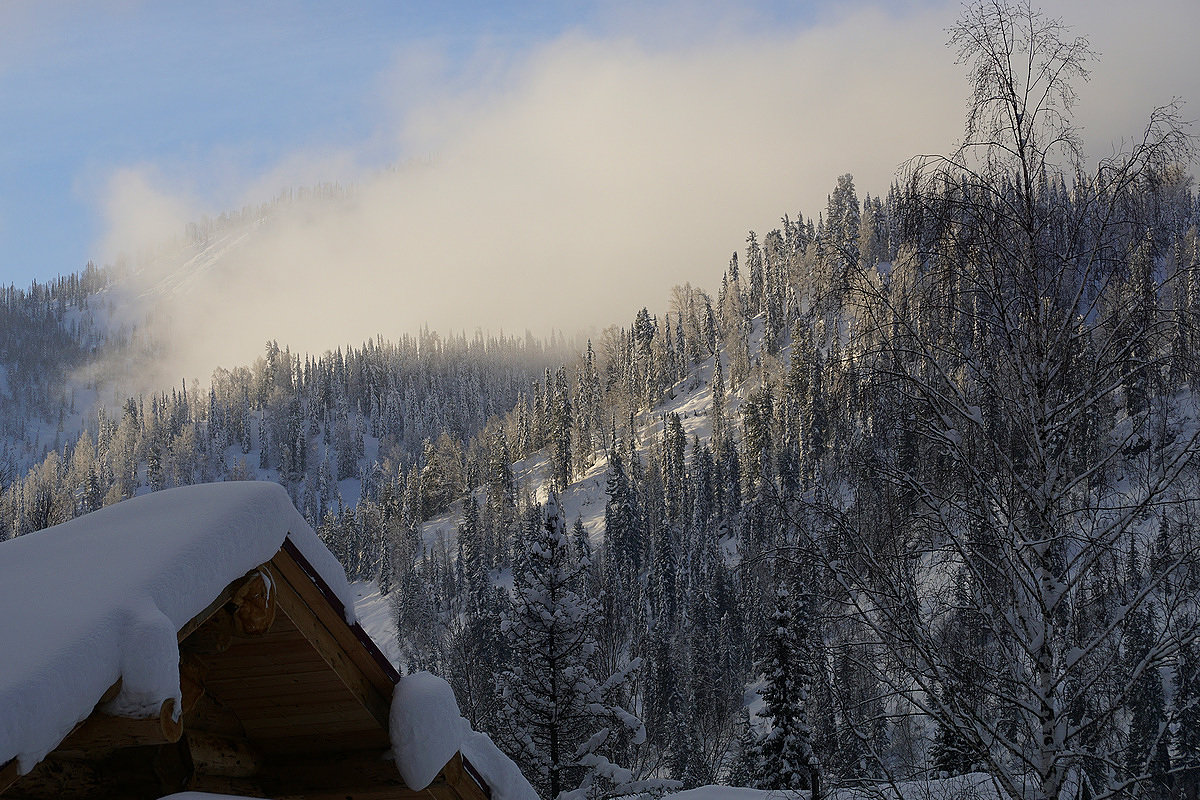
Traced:
<path fill-rule="evenodd" d="M 325 599 L 316 594 L 316 588 L 295 563 L 276 555 L 272 564 L 277 566 L 275 575 L 277 576 L 280 610 L 287 614 L 320 654 L 325 663 L 337 673 L 347 688 L 371 712 L 379 727 L 386 730 L 392 684 L 384 679 L 386 685 L 386 692 L 384 692 L 368 675 L 364 674 L 360 666 L 370 658 L 365 654 L 359 658 L 354 657 L 354 651 L 361 652 L 359 642 L 349 633 L 344 620 L 331 619 L 332 612 Z M 298 583 L 299 585 L 296 585 Z M 316 608 L 310 604 L 310 600 L 317 604 Z M 374 668 L 374 664 L 371 666 Z M 374 668 L 374 672 L 377 675 L 382 675 L 378 668 Z"/>

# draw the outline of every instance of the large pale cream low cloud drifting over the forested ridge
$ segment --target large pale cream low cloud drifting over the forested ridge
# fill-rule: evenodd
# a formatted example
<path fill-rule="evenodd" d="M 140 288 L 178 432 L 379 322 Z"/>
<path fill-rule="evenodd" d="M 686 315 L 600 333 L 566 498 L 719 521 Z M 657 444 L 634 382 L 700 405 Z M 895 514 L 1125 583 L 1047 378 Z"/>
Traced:
<path fill-rule="evenodd" d="M 953 145 L 967 96 L 944 47 L 956 10 L 863 8 L 665 48 L 569 35 L 518 62 L 481 56 L 491 67 L 475 82 L 439 78 L 436 54 L 400 59 L 380 79 L 394 125 L 364 145 L 392 151 L 400 167 L 364 170 L 353 150 L 281 158 L 245 179 L 246 198 L 324 169 L 355 192 L 276 215 L 186 287 L 154 276 L 170 285 L 150 295 L 172 320 L 168 373 L 206 378 L 268 338 L 319 353 L 426 324 L 574 332 L 662 306 L 676 283 L 715 288 L 748 229 L 815 217 L 842 173 L 860 198 L 884 193 L 905 158 Z M 1123 114 L 1154 80 L 1130 77 L 1142 72 L 1116 73 L 1111 102 L 1084 100 Z M 1148 108 L 1134 110 L 1139 120 Z M 1121 114 L 1091 113 L 1088 136 L 1120 137 L 1126 127 L 1096 127 L 1124 125 Z M 109 241 L 191 207 L 131 175 L 114 181 Z"/>

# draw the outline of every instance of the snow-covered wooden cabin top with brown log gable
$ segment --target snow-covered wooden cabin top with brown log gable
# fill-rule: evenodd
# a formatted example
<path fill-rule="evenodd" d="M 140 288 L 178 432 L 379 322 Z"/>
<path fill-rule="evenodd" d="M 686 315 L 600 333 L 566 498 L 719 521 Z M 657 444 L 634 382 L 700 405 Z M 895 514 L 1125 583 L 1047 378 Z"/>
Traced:
<path fill-rule="evenodd" d="M 397 718 L 461 724 L 476 748 L 481 734 L 452 693 L 452 714 L 396 708 L 410 679 L 353 597 L 272 483 L 158 492 L 0 543 L 0 607 L 29 609 L 0 616 L 0 796 L 486 800 L 497 781 L 497 800 L 534 796 L 462 748 L 439 753 L 427 787 L 404 783 Z M 486 768 L 511 766 L 486 744 Z"/>

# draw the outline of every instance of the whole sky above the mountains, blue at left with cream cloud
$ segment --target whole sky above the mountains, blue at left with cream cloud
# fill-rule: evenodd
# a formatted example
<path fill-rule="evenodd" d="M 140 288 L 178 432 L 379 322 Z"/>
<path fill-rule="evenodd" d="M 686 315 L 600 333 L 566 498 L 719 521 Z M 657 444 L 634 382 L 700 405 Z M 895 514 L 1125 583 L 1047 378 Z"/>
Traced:
<path fill-rule="evenodd" d="M 1200 4 L 1048 11 L 1102 54 L 1078 107 L 1091 154 L 1172 97 L 1200 116 Z M 0 0 L 0 284 L 338 182 L 353 203 L 256 233 L 168 312 L 211 345 L 188 369 L 264 336 L 320 351 L 424 324 L 626 321 L 674 283 L 715 288 L 749 229 L 816 216 L 838 175 L 883 193 L 953 148 L 958 12 Z"/>

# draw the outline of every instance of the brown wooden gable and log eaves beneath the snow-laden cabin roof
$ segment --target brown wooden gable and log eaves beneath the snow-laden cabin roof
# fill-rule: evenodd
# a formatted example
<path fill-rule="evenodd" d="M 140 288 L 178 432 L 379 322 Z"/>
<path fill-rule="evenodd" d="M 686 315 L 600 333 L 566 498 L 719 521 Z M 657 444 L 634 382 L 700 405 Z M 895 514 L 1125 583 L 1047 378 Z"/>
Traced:
<path fill-rule="evenodd" d="M 29 775 L 0 766 L 5 800 L 148 798 L 185 789 L 276 800 L 488 800 L 455 756 L 409 789 L 389 756 L 400 674 L 304 554 L 284 540 L 179 631 L 182 714 L 92 714 Z"/>

